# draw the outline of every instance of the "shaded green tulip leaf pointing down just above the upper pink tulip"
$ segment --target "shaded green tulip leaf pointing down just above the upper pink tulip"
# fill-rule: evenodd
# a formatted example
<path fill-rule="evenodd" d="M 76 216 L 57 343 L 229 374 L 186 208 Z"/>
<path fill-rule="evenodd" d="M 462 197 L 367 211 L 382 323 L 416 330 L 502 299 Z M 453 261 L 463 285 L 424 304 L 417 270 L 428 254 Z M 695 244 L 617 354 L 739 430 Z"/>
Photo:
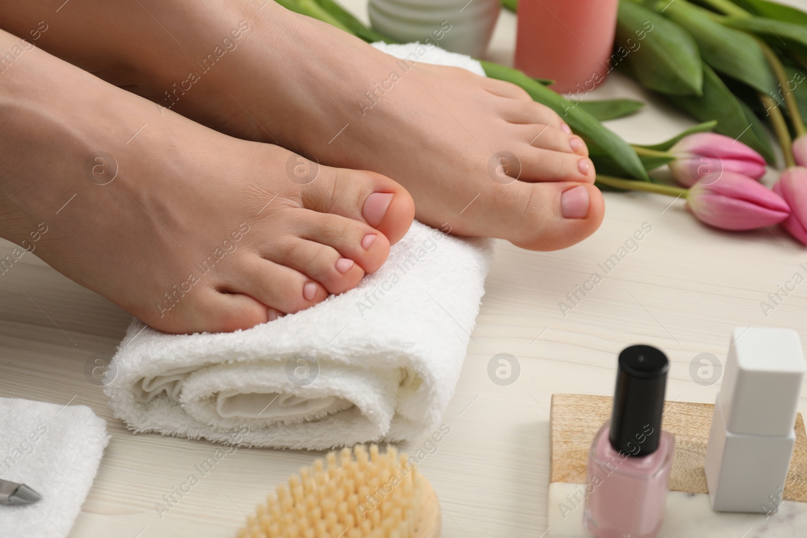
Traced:
<path fill-rule="evenodd" d="M 717 119 L 715 131 L 731 136 L 759 152 L 769 163 L 775 162 L 771 141 L 762 122 L 748 106 L 734 97 L 708 65 L 704 65 L 704 94 L 702 97 L 667 95 L 673 104 L 702 122 Z"/>

